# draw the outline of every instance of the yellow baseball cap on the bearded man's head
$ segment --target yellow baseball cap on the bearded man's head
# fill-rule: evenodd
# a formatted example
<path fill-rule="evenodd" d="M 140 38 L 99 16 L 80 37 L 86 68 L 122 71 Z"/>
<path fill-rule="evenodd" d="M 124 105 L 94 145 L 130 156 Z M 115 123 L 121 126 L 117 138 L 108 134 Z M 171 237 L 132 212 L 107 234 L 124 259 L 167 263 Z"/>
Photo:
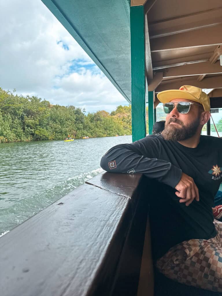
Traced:
<path fill-rule="evenodd" d="M 169 89 L 167 91 L 160 91 L 157 98 L 161 103 L 168 103 L 173 99 L 188 99 L 198 102 L 203 105 L 204 111 L 210 112 L 210 98 L 207 94 L 199 89 L 199 87 L 192 85 L 183 85 L 179 89 Z"/>

